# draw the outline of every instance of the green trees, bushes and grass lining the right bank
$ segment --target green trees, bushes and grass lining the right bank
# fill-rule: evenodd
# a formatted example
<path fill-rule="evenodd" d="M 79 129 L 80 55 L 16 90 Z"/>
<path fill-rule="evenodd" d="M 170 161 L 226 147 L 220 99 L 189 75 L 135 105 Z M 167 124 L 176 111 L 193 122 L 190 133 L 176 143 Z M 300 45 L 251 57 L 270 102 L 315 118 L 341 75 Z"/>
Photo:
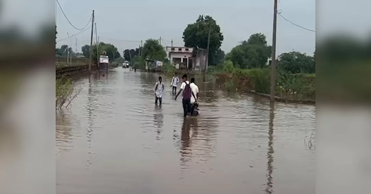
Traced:
<path fill-rule="evenodd" d="M 234 47 L 223 62 L 209 66 L 227 91 L 270 93 L 271 47 L 264 34 L 256 33 Z M 315 100 L 315 60 L 300 52 L 282 53 L 278 57 L 276 96 L 296 101 Z"/>

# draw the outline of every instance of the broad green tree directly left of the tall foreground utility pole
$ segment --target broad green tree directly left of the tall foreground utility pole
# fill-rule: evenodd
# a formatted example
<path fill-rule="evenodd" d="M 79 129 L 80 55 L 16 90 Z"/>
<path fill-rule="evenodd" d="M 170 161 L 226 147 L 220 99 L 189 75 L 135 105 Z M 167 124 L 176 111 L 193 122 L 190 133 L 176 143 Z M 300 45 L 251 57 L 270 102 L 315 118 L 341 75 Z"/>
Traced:
<path fill-rule="evenodd" d="M 266 67 L 268 58 L 271 57 L 272 47 L 267 45 L 264 34 L 250 35 L 247 41 L 232 48 L 226 59 L 243 69 Z"/>

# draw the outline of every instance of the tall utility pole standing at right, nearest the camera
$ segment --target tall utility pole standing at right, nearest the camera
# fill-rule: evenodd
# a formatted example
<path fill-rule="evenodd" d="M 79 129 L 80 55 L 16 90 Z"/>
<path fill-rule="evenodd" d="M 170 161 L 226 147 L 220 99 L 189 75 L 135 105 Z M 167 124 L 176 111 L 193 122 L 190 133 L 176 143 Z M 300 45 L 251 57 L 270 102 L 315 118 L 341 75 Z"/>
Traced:
<path fill-rule="evenodd" d="M 270 64 L 270 103 L 275 102 L 276 86 L 276 35 L 277 35 L 277 0 L 274 0 L 273 10 L 273 42 L 272 42 L 272 63 Z"/>

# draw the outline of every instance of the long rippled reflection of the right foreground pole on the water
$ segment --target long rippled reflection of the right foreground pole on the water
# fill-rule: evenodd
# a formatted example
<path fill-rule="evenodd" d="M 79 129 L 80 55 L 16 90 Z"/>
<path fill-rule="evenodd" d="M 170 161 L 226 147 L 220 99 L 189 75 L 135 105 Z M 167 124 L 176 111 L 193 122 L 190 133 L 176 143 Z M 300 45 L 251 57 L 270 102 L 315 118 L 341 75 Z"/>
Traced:
<path fill-rule="evenodd" d="M 267 149 L 267 183 L 265 192 L 267 194 L 273 193 L 273 119 L 274 119 L 274 103 L 270 103 L 270 110 L 269 110 L 269 127 L 268 127 L 268 149 Z"/>

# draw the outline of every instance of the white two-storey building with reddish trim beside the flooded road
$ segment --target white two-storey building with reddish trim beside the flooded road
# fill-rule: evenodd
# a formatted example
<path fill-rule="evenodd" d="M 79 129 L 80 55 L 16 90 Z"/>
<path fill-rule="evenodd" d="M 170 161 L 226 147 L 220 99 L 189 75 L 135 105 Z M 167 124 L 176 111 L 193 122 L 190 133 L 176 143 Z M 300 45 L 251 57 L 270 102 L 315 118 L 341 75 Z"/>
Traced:
<path fill-rule="evenodd" d="M 180 69 L 181 67 L 188 69 L 193 48 L 166 47 L 166 52 L 168 53 L 170 62 L 174 64 L 176 69 Z"/>

